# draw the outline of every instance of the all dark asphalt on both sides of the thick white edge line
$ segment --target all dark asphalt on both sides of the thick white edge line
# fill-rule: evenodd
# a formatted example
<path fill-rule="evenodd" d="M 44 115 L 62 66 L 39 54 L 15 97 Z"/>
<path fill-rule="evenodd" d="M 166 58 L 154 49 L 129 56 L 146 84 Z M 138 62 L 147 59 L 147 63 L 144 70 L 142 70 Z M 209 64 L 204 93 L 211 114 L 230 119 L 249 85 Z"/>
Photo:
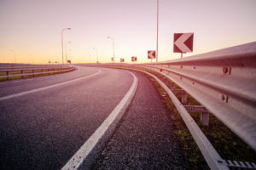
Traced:
<path fill-rule="evenodd" d="M 160 95 L 135 74 L 135 97 L 91 169 L 188 168 Z M 0 169 L 61 169 L 132 82 L 127 71 L 91 67 L 0 82 Z"/>

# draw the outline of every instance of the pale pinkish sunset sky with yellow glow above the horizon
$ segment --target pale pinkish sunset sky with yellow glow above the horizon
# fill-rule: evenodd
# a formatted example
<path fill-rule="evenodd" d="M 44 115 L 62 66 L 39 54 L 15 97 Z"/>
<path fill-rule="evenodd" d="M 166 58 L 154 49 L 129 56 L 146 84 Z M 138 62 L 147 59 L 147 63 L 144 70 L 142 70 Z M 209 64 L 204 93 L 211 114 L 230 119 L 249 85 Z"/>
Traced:
<path fill-rule="evenodd" d="M 173 53 L 173 34 L 194 32 L 188 57 L 256 41 L 255 0 L 159 0 L 159 61 Z M 0 63 L 150 62 L 156 49 L 157 0 L 0 0 Z M 112 37 L 108 39 L 107 37 Z M 68 43 L 70 42 L 70 43 Z M 155 61 L 155 60 L 153 60 Z"/>

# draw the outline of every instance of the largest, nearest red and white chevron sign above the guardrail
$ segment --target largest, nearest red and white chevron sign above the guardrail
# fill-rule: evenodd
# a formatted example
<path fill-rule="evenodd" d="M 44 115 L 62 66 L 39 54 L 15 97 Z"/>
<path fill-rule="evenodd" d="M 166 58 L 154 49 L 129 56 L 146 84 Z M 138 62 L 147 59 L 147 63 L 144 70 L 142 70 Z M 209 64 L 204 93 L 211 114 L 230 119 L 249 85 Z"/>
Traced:
<path fill-rule="evenodd" d="M 194 33 L 175 33 L 173 53 L 193 52 Z"/>

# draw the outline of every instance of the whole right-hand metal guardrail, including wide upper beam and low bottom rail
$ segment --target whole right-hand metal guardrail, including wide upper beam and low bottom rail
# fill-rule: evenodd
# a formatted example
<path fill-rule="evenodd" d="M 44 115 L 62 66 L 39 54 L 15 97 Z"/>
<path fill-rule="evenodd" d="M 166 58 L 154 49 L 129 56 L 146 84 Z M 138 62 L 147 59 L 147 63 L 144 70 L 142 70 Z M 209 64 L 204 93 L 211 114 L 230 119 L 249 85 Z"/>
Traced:
<path fill-rule="evenodd" d="M 154 75 L 148 72 L 156 71 L 201 103 L 198 108 L 183 105 L 173 94 L 174 91 L 165 88 L 165 84 L 160 82 L 211 169 L 256 169 L 253 163 L 241 162 L 239 165 L 237 161 L 232 163 L 223 160 L 187 111 L 201 111 L 202 119 L 208 117 L 203 113 L 211 112 L 256 150 L 256 42 L 166 62 L 115 66 L 143 70 L 152 77 Z M 157 80 L 157 77 L 154 78 Z"/>

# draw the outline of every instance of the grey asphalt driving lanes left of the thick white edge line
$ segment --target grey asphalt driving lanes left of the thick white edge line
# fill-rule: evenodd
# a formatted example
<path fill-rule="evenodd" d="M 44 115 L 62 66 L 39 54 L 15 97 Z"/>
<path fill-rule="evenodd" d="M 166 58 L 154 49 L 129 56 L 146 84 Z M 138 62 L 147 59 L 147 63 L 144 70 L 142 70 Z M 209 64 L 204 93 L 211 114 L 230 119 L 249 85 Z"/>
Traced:
<path fill-rule="evenodd" d="M 127 71 L 78 67 L 0 82 L 0 169 L 61 169 L 132 81 Z"/>

